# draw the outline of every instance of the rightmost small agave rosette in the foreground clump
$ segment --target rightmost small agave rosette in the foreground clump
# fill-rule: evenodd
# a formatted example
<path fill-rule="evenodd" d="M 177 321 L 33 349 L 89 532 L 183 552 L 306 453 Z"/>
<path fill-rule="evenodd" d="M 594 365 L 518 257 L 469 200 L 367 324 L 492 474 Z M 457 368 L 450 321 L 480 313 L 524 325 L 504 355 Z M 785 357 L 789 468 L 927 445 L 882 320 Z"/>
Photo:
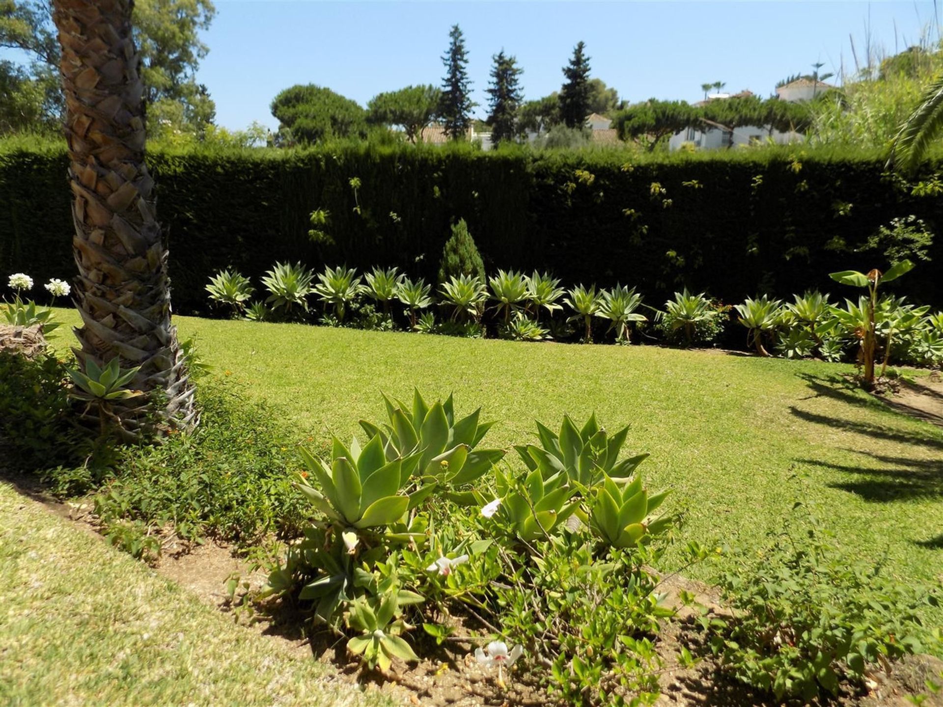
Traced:
<path fill-rule="evenodd" d="M 591 496 L 589 528 L 614 548 L 632 548 L 662 533 L 670 518 L 652 518 L 668 492 L 648 495 L 639 474 L 631 483 L 617 484 L 604 475 Z"/>

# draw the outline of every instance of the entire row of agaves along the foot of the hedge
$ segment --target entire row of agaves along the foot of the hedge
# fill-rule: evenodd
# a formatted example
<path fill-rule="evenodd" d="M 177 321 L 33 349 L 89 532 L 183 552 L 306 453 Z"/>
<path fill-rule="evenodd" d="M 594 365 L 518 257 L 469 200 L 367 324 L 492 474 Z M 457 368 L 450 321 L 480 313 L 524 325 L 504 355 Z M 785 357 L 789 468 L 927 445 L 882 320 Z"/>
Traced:
<path fill-rule="evenodd" d="M 843 304 L 833 303 L 830 295 L 818 291 L 795 295 L 794 302 L 788 304 L 766 295 L 748 298 L 733 307 L 736 321 L 748 330 L 748 346 L 763 356 L 775 351 L 787 358 L 816 356 L 840 361 L 851 357 L 866 369 L 879 358 L 883 368 L 891 358 L 938 366 L 943 363 L 943 313 L 931 313 L 929 307 L 908 304 L 902 297 L 877 295 L 879 283 L 896 279 L 912 267 L 903 261 L 884 273 L 833 273 L 844 285 L 869 290 L 857 301 L 846 299 Z M 676 292 L 664 309 L 658 310 L 642 304 L 634 288 L 617 285 L 597 290 L 580 285 L 565 289 L 558 279 L 537 271 L 525 275 L 499 270 L 487 284 L 474 275 L 450 277 L 438 291 L 438 304 L 448 313 L 444 325 L 438 324 L 430 311 L 437 304 L 432 286 L 422 278 L 412 280 L 396 268 L 374 268 L 361 277 L 353 268 L 328 267 L 315 274 L 300 264 L 279 263 L 266 273 L 262 284 L 269 292 L 264 303 L 250 303 L 255 288 L 235 271 L 218 272 L 207 291 L 215 303 L 228 306 L 235 316 L 256 321 L 306 313 L 310 295 L 321 299 L 323 321 L 332 324 L 342 323 L 363 297 L 382 308 L 386 321 L 392 319 L 391 304 L 398 302 L 409 327 L 424 333 L 448 331 L 449 325 L 452 331 L 480 333 L 490 303 L 499 334 L 527 340 L 550 337 L 551 331 L 559 328 L 554 314 L 564 305 L 571 310 L 566 324 L 576 324 L 587 342 L 592 341 L 596 318 L 609 322 L 607 333 L 614 333 L 617 341 L 629 341 L 633 328 L 649 321 L 643 309 L 649 310 L 665 337 L 686 346 L 710 343 L 730 320 L 730 307 L 704 293 Z"/>

